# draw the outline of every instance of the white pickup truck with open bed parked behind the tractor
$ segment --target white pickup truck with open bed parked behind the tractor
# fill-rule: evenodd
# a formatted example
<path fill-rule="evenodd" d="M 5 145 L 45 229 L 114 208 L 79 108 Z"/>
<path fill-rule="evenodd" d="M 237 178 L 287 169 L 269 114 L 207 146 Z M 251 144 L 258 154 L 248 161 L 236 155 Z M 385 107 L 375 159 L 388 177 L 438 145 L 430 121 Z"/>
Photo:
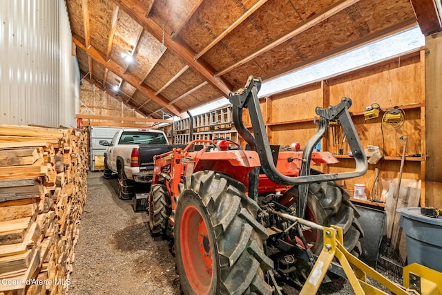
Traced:
<path fill-rule="evenodd" d="M 171 151 L 163 131 L 155 129 L 122 129 L 112 142 L 100 140 L 108 146 L 104 152 L 104 178 L 118 174 L 118 196 L 130 199 L 134 194 L 134 182 L 152 182 L 153 156 Z"/>

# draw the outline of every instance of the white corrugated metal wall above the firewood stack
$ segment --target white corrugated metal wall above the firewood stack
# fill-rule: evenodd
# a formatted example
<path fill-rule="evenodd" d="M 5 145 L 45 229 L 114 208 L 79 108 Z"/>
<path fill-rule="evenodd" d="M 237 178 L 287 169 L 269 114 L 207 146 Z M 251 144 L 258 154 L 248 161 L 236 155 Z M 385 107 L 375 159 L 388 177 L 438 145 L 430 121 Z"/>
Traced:
<path fill-rule="evenodd" d="M 65 1 L 0 1 L 0 28 L 0 124 L 75 126 L 79 70 Z"/>

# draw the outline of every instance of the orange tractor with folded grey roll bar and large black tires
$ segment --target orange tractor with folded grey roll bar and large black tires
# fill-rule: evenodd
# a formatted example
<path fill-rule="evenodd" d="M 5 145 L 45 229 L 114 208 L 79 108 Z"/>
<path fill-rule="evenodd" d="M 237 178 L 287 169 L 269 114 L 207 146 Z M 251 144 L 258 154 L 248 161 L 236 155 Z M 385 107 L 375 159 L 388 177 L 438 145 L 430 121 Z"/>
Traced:
<path fill-rule="evenodd" d="M 352 100 L 316 108 L 318 131 L 305 149 L 279 151 L 265 132 L 260 85 L 260 79 L 249 77 L 244 88 L 229 96 L 233 122 L 249 150 L 230 140 L 195 140 L 155 157 L 149 225 L 153 235 L 173 237 L 184 294 L 280 294 L 278 278 L 302 282 L 323 249 L 314 224 L 342 227 L 345 248 L 361 254 L 358 211 L 334 182 L 367 170 L 348 112 Z M 243 108 L 249 109 L 254 136 L 242 123 Z M 314 163 L 337 162 L 331 153 L 314 152 L 331 120 L 343 126 L 354 171 L 323 174 L 311 169 Z M 332 264 L 327 278 L 334 276 L 344 276 L 338 264 Z"/>

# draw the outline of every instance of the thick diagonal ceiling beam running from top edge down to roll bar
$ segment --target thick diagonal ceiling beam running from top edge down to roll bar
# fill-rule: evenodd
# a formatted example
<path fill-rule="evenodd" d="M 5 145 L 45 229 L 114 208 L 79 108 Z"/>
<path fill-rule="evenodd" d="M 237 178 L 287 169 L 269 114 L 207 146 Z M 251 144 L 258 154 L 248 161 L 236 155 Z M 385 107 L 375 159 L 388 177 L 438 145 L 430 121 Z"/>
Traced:
<path fill-rule="evenodd" d="M 162 27 L 153 19 L 145 17 L 146 7 L 138 0 L 113 0 L 119 8 L 124 10 L 130 17 L 140 23 L 153 37 L 162 40 Z M 188 64 L 196 73 L 200 74 L 207 82 L 211 83 L 218 91 L 228 96 L 233 88 L 225 79 L 214 77 L 214 70 L 203 61 L 193 59 L 195 52 L 188 46 L 184 46 L 180 40 L 173 41 L 171 36 L 164 35 L 164 44 L 169 50 L 172 50 L 177 57 Z M 170 110 L 169 110 L 170 111 Z"/>

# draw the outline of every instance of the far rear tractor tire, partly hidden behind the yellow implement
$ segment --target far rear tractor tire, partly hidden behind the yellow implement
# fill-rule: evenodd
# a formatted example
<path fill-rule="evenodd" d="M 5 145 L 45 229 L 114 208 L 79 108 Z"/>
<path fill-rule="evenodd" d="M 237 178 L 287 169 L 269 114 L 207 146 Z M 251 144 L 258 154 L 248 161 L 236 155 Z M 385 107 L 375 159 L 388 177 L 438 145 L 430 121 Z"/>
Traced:
<path fill-rule="evenodd" d="M 280 198 L 285 206 L 298 199 L 298 187 L 293 187 Z M 335 182 L 313 183 L 309 185 L 305 219 L 318 225 L 329 227 L 337 225 L 344 230 L 344 246 L 347 251 L 358 257 L 362 254 L 361 242 L 364 231 L 358 222 L 359 212 L 349 201 L 348 193 Z M 318 255 L 323 249 L 323 233 L 315 229 L 303 231 L 311 251 Z"/>

